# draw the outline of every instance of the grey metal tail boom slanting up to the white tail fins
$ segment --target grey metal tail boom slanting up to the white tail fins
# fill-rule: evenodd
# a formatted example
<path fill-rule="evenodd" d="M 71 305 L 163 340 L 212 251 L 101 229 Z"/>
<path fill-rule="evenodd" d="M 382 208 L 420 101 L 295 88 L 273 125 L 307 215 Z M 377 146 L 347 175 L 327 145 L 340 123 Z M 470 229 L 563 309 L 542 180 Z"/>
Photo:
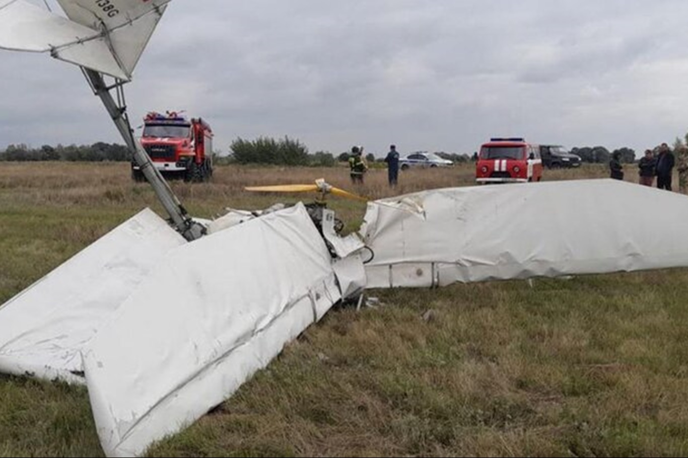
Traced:
<path fill-rule="evenodd" d="M 193 221 L 193 219 L 186 214 L 186 209 L 182 206 L 177 196 L 175 196 L 175 194 L 172 192 L 172 189 L 164 180 L 160 174 L 160 171 L 153 166 L 151 158 L 143 149 L 141 144 L 134 138 L 133 129 L 131 129 L 129 117 L 127 116 L 127 107 L 124 103 L 124 91 L 122 89 L 124 82 L 117 80 L 115 85 L 109 87 L 107 84 L 105 84 L 103 74 L 83 67 L 82 70 L 89 81 L 94 94 L 100 97 L 100 100 L 103 101 L 105 109 L 107 109 L 110 118 L 112 118 L 117 129 L 120 131 L 120 134 L 125 140 L 129 151 L 131 151 L 136 164 L 140 167 L 144 177 L 146 177 L 151 186 L 153 186 L 155 195 L 158 196 L 162 206 L 170 215 L 173 226 L 175 226 L 175 228 L 188 241 L 202 237 L 206 232 L 206 228 L 197 221 Z M 111 89 L 117 89 L 118 102 L 115 102 L 112 94 L 110 94 Z"/>

